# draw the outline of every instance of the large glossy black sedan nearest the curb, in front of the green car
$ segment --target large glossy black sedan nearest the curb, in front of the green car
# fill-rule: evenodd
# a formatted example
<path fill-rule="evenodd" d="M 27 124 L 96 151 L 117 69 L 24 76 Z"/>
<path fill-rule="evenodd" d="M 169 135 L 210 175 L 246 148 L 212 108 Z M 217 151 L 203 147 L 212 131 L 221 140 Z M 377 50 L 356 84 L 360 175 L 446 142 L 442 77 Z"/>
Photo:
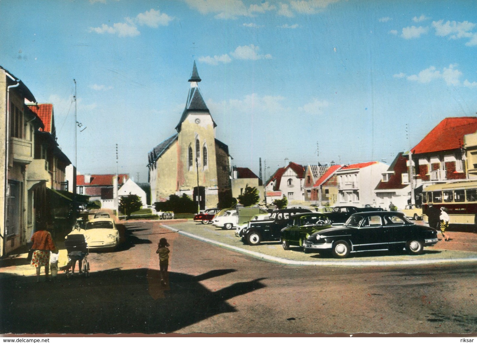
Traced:
<path fill-rule="evenodd" d="M 437 243 L 437 231 L 416 225 L 403 213 L 389 211 L 353 214 L 345 225 L 324 229 L 305 241 L 306 249 L 331 252 L 334 257 L 345 258 L 350 253 L 365 250 L 400 251 L 422 254 L 424 247 Z"/>

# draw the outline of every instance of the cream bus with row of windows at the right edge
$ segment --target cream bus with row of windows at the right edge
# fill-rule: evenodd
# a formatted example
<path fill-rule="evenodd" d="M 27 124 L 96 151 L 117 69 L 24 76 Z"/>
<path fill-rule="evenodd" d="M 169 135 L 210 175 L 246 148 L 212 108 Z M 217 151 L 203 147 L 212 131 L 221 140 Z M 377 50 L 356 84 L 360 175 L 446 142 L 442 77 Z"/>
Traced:
<path fill-rule="evenodd" d="M 477 226 L 477 181 L 439 183 L 427 186 L 422 192 L 423 220 L 428 223 L 429 205 L 446 207 L 449 224 Z"/>

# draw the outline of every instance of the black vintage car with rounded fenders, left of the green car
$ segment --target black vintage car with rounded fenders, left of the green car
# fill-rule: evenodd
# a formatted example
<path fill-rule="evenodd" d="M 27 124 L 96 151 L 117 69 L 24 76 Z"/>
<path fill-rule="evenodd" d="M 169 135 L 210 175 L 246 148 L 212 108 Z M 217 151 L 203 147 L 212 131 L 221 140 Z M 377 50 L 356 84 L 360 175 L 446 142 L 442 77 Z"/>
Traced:
<path fill-rule="evenodd" d="M 244 243 L 252 246 L 262 241 L 280 241 L 281 229 L 288 225 L 290 217 L 298 213 L 312 213 L 305 208 L 285 208 L 273 211 L 267 220 L 254 220 L 238 235 Z"/>

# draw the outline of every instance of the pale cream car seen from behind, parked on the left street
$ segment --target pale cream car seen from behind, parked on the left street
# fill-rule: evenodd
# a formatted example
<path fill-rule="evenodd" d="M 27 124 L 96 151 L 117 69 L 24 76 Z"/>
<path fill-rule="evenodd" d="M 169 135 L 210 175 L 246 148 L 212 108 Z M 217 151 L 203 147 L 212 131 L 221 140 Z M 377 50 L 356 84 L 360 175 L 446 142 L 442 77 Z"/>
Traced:
<path fill-rule="evenodd" d="M 115 248 L 119 244 L 119 231 L 111 218 L 93 218 L 86 223 L 86 243 L 90 249 Z"/>

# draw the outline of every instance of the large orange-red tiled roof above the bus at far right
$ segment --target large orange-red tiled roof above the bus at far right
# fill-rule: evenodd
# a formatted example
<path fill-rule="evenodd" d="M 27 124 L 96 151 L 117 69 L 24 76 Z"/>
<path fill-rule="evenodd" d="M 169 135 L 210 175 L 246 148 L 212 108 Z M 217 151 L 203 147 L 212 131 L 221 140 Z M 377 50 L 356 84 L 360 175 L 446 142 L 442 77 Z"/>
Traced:
<path fill-rule="evenodd" d="M 464 135 L 477 131 L 477 117 L 450 117 L 442 120 L 411 151 L 414 154 L 460 149 Z"/>

